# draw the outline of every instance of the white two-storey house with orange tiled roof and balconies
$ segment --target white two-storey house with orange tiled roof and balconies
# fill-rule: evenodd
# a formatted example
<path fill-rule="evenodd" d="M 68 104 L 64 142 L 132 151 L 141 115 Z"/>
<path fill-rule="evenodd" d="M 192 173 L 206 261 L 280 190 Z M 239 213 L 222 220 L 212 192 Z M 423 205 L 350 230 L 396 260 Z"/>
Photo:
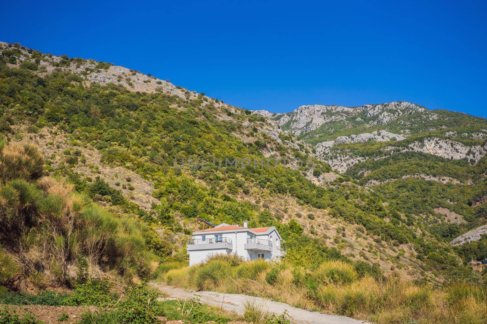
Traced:
<path fill-rule="evenodd" d="M 189 265 L 203 262 L 207 256 L 230 254 L 242 256 L 245 260 L 279 260 L 281 253 L 281 235 L 276 227 L 247 228 L 237 224 L 220 224 L 214 228 L 193 232 L 187 241 L 186 250 Z"/>

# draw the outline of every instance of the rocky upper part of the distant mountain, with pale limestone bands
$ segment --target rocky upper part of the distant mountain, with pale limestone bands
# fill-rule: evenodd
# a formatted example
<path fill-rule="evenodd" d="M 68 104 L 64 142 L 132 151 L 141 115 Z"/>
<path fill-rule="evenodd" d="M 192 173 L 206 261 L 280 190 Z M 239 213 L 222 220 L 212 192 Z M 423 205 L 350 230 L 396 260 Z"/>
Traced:
<path fill-rule="evenodd" d="M 366 104 L 360 107 L 307 105 L 290 113 L 255 111 L 282 130 L 315 146 L 324 161 L 344 173 L 368 160 L 419 152 L 477 163 L 486 154 L 487 120 L 446 110 L 429 110 L 410 102 Z M 347 143 L 386 142 L 362 150 Z M 401 143 L 391 143 L 399 142 Z M 353 148 L 347 150 L 347 148 Z M 357 169 L 358 167 L 356 167 Z M 369 171 L 364 169 L 362 171 Z"/>

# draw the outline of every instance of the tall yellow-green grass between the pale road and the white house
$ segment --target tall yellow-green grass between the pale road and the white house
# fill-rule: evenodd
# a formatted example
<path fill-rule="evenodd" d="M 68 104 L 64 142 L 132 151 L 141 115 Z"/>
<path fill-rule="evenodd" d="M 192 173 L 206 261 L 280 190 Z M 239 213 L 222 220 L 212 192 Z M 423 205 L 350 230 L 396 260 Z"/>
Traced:
<path fill-rule="evenodd" d="M 257 295 L 376 323 L 485 323 L 485 286 L 456 281 L 432 288 L 370 270 L 343 261 L 326 261 L 311 270 L 216 256 L 170 270 L 165 278 L 170 285 Z"/>

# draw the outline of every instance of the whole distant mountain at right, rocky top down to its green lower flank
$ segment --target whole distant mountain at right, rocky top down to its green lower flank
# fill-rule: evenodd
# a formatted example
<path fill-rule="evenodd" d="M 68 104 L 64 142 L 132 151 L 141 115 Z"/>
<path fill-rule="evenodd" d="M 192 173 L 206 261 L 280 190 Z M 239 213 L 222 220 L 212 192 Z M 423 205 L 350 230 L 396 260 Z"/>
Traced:
<path fill-rule="evenodd" d="M 299 135 L 322 161 L 382 194 L 440 239 L 487 222 L 481 198 L 487 194 L 485 118 L 409 102 L 254 113 Z M 456 219 L 446 217 L 451 213 Z"/>

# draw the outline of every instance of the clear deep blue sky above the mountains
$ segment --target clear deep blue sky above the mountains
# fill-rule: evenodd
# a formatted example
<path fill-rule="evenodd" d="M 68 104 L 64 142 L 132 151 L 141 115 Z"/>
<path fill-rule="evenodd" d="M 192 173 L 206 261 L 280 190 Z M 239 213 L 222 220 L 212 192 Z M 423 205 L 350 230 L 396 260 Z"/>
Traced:
<path fill-rule="evenodd" d="M 248 109 L 405 100 L 487 117 L 486 1 L 394 2 L 7 1 L 0 40 Z"/>

